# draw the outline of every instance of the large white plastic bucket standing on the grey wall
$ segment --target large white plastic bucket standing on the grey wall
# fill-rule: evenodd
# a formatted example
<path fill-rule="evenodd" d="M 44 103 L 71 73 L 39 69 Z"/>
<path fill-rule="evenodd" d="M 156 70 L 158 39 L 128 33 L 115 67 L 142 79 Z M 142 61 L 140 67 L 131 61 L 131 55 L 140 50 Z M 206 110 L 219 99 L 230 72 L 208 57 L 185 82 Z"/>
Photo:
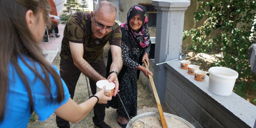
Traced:
<path fill-rule="evenodd" d="M 238 73 L 226 67 L 211 67 L 208 72 L 208 90 L 217 95 L 228 96 L 232 94 Z"/>

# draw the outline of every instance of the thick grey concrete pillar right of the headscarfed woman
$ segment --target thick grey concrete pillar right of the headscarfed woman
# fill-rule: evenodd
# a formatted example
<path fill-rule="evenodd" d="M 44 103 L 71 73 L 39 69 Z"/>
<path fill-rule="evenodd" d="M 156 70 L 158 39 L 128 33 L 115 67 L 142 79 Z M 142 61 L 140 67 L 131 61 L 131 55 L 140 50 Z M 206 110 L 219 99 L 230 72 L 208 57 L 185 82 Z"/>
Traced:
<path fill-rule="evenodd" d="M 162 63 L 177 59 L 182 51 L 182 33 L 184 13 L 190 5 L 189 0 L 152 0 L 157 9 L 157 27 L 154 62 Z M 154 83 L 160 102 L 164 101 L 166 85 L 166 68 L 157 65 L 154 72 Z"/>

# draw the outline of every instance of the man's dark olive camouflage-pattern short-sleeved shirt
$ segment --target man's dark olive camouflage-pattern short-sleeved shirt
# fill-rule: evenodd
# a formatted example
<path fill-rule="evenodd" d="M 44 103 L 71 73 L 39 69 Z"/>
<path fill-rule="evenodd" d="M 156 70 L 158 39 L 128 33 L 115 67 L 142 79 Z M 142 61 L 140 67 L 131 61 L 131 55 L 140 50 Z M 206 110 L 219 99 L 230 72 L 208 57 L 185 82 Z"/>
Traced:
<path fill-rule="evenodd" d="M 88 62 L 98 62 L 103 58 L 103 47 L 109 45 L 121 47 L 121 30 L 115 22 L 114 30 L 99 39 L 100 44 L 95 45 L 91 31 L 91 13 L 77 12 L 68 20 L 63 33 L 60 56 L 73 62 L 69 41 L 83 43 L 83 58 Z"/>

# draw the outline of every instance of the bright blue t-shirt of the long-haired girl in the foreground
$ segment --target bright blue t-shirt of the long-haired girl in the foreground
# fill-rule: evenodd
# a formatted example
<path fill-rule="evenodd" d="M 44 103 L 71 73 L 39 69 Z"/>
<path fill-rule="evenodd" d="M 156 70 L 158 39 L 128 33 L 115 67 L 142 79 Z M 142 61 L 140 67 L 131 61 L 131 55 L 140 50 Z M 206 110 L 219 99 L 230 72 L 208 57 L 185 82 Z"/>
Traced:
<path fill-rule="evenodd" d="M 32 67 L 36 67 L 36 70 L 45 77 L 42 68 L 38 63 L 33 66 L 33 63 L 26 58 L 26 62 Z M 51 94 L 53 97 L 53 102 L 51 102 L 50 95 L 47 95 L 47 90 L 43 82 L 39 78 L 35 78 L 34 72 L 30 70 L 20 58 L 18 58 L 19 66 L 22 68 L 23 72 L 28 79 L 33 98 L 34 110 L 37 113 L 39 120 L 46 120 L 51 114 L 54 113 L 55 109 L 59 108 L 61 105 L 65 104 L 70 98 L 69 91 L 65 82 L 61 79 L 64 88 L 64 100 L 59 104 L 57 102 L 57 86 L 54 82 L 52 75 L 49 75 L 51 82 Z M 53 66 L 58 72 L 56 66 Z M 13 65 L 9 65 L 9 87 L 7 91 L 7 99 L 5 106 L 5 116 L 2 123 L 0 123 L 0 128 L 26 128 L 29 122 L 30 104 L 29 96 L 24 83 L 19 77 L 17 71 Z"/>

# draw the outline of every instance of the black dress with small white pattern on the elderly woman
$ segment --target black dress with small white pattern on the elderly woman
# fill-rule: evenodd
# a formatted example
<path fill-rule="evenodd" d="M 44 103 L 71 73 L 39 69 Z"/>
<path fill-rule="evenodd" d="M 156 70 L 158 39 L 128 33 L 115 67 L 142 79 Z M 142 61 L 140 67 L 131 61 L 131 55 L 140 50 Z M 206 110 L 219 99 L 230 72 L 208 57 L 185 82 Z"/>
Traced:
<path fill-rule="evenodd" d="M 145 50 L 139 48 L 130 49 L 124 42 L 121 43 L 123 65 L 125 66 L 125 72 L 119 82 L 119 95 L 124 103 L 125 109 L 130 116 L 137 115 L 137 69 L 141 56 L 145 52 L 149 53 L 150 47 Z M 121 71 L 122 72 L 122 71 Z M 111 101 L 108 101 L 106 107 L 112 107 L 118 109 L 118 115 L 128 118 L 122 103 L 116 95 L 112 97 Z"/>

